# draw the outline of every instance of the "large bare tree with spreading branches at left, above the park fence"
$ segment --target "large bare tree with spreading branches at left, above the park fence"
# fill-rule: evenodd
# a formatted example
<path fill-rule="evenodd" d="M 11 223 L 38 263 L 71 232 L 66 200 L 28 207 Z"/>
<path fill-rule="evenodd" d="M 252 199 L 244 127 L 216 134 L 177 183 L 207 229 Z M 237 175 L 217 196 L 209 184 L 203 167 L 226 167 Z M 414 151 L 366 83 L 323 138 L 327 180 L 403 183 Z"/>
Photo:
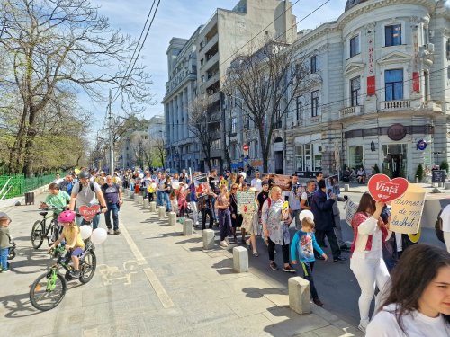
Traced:
<path fill-rule="evenodd" d="M 60 94 L 84 91 L 100 100 L 101 84 L 131 83 L 122 91 L 130 110 L 151 98 L 144 68 L 124 71 L 135 42 L 113 31 L 88 0 L 3 0 L 0 27 L 0 55 L 7 68 L 0 89 L 21 98 L 9 159 L 12 173 L 31 174 L 41 132 L 37 121 L 49 102 L 61 104 Z"/>

